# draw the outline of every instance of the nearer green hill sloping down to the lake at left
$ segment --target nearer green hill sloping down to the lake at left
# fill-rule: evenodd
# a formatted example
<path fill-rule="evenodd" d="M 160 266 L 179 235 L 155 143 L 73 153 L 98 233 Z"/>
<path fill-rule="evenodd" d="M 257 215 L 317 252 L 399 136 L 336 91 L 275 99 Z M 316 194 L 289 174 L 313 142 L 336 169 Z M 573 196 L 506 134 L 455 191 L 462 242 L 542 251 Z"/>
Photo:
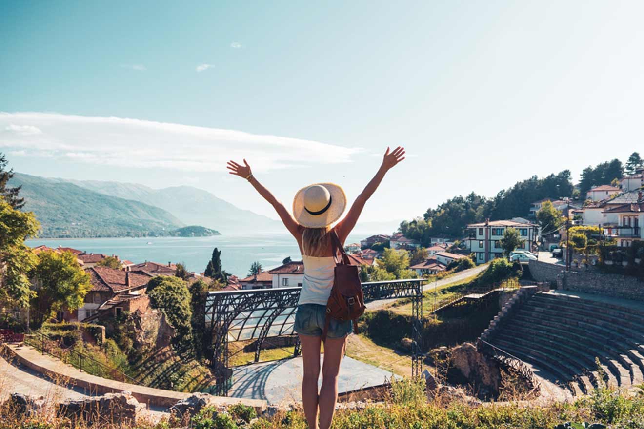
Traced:
<path fill-rule="evenodd" d="M 168 235 L 185 226 L 162 208 L 57 179 L 16 173 L 10 186 L 18 185 L 23 187 L 24 210 L 36 214 L 44 238 Z"/>

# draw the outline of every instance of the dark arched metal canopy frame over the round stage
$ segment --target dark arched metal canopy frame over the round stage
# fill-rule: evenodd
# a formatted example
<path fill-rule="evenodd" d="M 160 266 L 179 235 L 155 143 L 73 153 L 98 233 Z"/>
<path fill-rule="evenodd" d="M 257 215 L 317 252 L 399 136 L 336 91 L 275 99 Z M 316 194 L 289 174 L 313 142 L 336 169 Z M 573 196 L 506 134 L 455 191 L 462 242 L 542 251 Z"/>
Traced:
<path fill-rule="evenodd" d="M 363 283 L 365 302 L 412 298 L 412 376 L 421 375 L 422 284 L 424 278 Z M 266 338 L 294 334 L 293 324 L 301 288 L 249 289 L 209 292 L 205 300 L 205 327 L 210 335 L 211 367 L 219 395 L 227 396 L 231 382 L 228 343 L 256 340 L 260 360 Z M 293 356 L 300 353 L 297 340 Z"/>

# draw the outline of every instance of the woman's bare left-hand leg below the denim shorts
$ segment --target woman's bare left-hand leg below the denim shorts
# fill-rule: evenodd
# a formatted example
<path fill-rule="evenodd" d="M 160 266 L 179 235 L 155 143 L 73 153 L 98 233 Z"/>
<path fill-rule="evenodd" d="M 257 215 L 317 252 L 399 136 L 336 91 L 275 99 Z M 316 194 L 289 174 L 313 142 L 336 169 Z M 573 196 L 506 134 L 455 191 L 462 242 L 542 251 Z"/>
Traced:
<path fill-rule="evenodd" d="M 321 337 L 300 335 L 304 375 L 302 377 L 302 404 L 309 429 L 317 429 L 317 379 L 320 375 Z"/>

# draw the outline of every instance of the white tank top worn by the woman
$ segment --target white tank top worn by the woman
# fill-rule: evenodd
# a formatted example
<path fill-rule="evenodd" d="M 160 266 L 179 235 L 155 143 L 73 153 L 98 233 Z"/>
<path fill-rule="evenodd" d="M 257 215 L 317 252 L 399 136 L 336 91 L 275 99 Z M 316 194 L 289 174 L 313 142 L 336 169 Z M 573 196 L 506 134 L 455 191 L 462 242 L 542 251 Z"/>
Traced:
<path fill-rule="evenodd" d="M 332 256 L 302 255 L 304 279 L 299 293 L 300 304 L 320 304 L 326 306 L 333 287 L 336 261 Z"/>

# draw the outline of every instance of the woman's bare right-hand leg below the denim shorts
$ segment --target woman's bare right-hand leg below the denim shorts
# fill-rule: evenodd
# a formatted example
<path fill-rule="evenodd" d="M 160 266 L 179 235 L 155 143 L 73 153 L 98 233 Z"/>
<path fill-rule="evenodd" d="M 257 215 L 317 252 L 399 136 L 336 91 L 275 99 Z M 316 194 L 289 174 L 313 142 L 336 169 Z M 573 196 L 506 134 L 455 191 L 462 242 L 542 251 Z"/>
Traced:
<path fill-rule="evenodd" d="M 331 426 L 337 402 L 337 374 L 345 354 L 345 338 L 327 338 L 324 343 L 322 363 L 322 387 L 318 398 L 320 408 L 320 429 Z"/>

